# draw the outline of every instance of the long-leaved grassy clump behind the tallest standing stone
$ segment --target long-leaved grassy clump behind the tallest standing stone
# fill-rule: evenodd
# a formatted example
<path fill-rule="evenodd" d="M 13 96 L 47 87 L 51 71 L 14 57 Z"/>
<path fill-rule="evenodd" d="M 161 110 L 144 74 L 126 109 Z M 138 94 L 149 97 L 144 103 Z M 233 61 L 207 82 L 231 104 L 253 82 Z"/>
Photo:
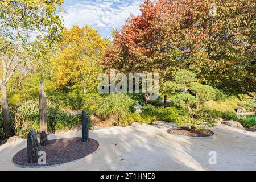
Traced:
<path fill-rule="evenodd" d="M 39 131 L 39 105 L 38 101 L 27 100 L 20 104 L 14 112 L 14 131 L 19 137 L 26 138 L 28 132 L 34 129 Z M 47 100 L 47 126 L 48 131 L 70 130 L 81 123 L 80 115 L 71 115 L 62 107 Z"/>

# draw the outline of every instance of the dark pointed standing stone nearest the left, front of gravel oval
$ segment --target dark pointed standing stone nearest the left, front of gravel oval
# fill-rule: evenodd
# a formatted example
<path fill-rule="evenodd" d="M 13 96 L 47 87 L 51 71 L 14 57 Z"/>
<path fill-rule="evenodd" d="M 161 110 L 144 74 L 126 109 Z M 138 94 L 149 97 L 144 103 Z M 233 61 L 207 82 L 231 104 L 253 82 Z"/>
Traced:
<path fill-rule="evenodd" d="M 37 163 L 38 162 L 38 139 L 36 138 L 36 133 L 34 130 L 31 130 L 27 135 L 27 162 Z"/>

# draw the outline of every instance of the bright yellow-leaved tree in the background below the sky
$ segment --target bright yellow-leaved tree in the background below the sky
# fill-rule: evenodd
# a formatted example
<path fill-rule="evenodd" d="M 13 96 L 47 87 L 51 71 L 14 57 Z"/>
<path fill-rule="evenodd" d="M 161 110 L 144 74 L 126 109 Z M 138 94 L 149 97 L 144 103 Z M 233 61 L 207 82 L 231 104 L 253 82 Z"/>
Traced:
<path fill-rule="evenodd" d="M 79 89 L 85 94 L 96 89 L 98 64 L 107 42 L 97 30 L 85 25 L 65 29 L 58 44 L 57 55 L 52 59 L 52 69 L 57 89 Z"/>

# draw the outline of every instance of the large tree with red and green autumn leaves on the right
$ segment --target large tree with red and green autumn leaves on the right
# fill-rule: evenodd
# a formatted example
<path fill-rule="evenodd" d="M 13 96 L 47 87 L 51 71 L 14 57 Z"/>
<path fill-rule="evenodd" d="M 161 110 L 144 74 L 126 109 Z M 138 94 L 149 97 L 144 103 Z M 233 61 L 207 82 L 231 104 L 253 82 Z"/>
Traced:
<path fill-rule="evenodd" d="M 216 8 L 216 14 L 209 11 Z M 233 93 L 255 90 L 255 1 L 144 1 L 102 59 L 123 72 L 156 71 L 162 82 L 177 69 Z"/>

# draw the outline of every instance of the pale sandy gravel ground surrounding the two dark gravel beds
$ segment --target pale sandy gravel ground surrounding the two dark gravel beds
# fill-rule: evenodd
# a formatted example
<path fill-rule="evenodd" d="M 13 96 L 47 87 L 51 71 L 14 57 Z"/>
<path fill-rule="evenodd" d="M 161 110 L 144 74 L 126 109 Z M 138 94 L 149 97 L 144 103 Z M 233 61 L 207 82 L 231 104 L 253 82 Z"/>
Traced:
<path fill-rule="evenodd" d="M 256 132 L 218 124 L 210 140 L 167 133 L 172 125 L 110 127 L 89 132 L 99 148 L 74 162 L 46 168 L 20 168 L 13 156 L 27 146 L 18 140 L 0 146 L 0 170 L 256 170 Z M 81 137 L 81 131 L 51 134 L 48 139 Z M 216 164 L 209 164 L 209 152 Z"/>

